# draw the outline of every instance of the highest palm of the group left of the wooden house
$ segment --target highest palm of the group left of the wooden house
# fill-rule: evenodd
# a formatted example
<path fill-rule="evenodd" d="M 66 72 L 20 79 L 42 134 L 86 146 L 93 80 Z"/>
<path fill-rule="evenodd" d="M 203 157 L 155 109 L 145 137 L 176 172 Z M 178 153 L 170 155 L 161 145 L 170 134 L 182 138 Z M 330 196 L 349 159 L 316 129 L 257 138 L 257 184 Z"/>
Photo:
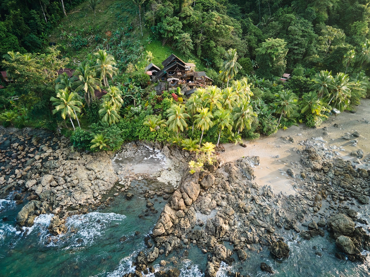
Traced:
<path fill-rule="evenodd" d="M 99 50 L 98 52 L 94 53 L 94 56 L 96 57 L 96 63 L 97 65 L 94 66 L 97 73 L 100 72 L 100 80 L 103 80 L 104 86 L 108 86 L 108 79 L 107 75 L 113 78 L 113 75 L 117 75 L 118 68 L 114 67 L 117 65 L 114 57 L 107 53 L 105 50 Z"/>

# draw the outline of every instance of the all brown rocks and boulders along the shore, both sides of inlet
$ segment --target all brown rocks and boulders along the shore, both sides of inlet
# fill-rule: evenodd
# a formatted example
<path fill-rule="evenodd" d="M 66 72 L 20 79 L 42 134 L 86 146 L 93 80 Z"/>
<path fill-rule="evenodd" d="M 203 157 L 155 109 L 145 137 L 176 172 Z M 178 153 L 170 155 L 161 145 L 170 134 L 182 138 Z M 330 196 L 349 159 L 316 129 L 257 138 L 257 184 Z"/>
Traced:
<path fill-rule="evenodd" d="M 58 235 L 66 231 L 68 216 L 109 204 L 120 193 L 130 199 L 132 194 L 126 190 L 132 180 L 167 178 L 167 186 L 143 193 L 148 211 L 156 212 L 150 201 L 154 194 L 163 196 L 168 204 L 151 234 L 154 247 L 147 242 L 147 251 L 137 256 L 135 274 L 127 276 L 152 272 L 151 263 L 159 257 L 163 259 L 159 264 L 165 266 L 170 253 L 183 251 L 181 257 L 171 258 L 175 265 L 186 258 L 191 245 L 208 257 L 205 276 L 216 276 L 221 261 L 231 264 L 235 257 L 248 260 L 262 247 L 268 247 L 275 259 L 285 259 L 290 249 L 283 237 L 310 239 L 324 236 L 326 231 L 336 239 L 339 259 L 364 261 L 363 250 L 370 251 L 369 223 L 357 212 L 369 209 L 370 170 L 344 161 L 337 157 L 336 149 L 325 148 L 317 140 L 288 141 L 301 161 L 291 163 L 287 172 L 297 180 L 297 193 L 285 196 L 254 181 L 253 167 L 260 163 L 259 157 L 244 157 L 235 163 L 218 160 L 191 175 L 186 170 L 189 153 L 164 146 L 161 153 L 170 161 L 167 168 L 137 174 L 129 169 L 115 170 L 114 153 L 78 153 L 67 139 L 53 133 L 1 129 L 0 193 L 14 190 L 18 204 L 28 201 L 17 216 L 20 226 L 32 225 L 41 213 L 53 213 L 48 229 Z M 123 151 L 135 155 L 135 148 L 140 147 L 130 143 Z M 359 161 L 367 158 L 361 151 L 356 155 Z M 181 181 L 169 174 L 171 171 L 184 172 Z M 112 198 L 104 197 L 112 191 Z M 267 264 L 261 264 L 261 269 L 273 273 Z M 155 276 L 178 274 L 173 268 Z"/>

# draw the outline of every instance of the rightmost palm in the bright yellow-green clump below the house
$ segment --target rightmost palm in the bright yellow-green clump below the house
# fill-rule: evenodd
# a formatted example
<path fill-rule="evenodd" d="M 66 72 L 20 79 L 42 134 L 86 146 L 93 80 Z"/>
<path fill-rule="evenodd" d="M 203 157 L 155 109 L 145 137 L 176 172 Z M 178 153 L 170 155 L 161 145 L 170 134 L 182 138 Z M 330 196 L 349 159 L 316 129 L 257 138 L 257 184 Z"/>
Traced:
<path fill-rule="evenodd" d="M 253 117 L 257 114 L 253 112 L 252 106 L 249 101 L 242 99 L 240 104 L 233 109 L 233 119 L 235 130 L 238 129 L 238 134 L 244 130 L 244 128 L 250 129 L 253 122 Z"/>

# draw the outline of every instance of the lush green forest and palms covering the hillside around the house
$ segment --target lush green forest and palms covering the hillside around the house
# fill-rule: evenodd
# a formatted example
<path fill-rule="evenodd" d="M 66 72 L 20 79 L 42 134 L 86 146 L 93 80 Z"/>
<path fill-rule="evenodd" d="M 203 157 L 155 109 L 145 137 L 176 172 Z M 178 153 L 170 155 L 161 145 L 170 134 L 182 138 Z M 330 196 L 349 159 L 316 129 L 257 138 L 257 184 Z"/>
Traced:
<path fill-rule="evenodd" d="M 319 126 L 369 96 L 363 0 L 89 0 L 64 3 L 66 15 L 61 2 L 44 2 L 0 8 L 1 67 L 13 80 L 2 82 L 0 118 L 60 129 L 82 150 L 145 139 L 209 154 L 219 142 Z M 190 98 L 182 86 L 155 91 L 144 68 L 172 53 L 214 86 Z"/>

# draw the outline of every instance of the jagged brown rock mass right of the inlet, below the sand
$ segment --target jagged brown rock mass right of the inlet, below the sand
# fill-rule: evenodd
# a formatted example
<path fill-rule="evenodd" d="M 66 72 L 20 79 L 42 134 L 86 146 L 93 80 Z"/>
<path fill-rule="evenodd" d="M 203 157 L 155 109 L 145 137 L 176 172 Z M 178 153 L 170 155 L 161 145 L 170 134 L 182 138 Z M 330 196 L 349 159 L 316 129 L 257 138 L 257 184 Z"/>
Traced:
<path fill-rule="evenodd" d="M 240 158 L 236 163 L 218 161 L 193 175 L 185 172 L 153 229 L 154 249 L 141 252 L 137 271 L 126 276 L 151 271 L 148 265 L 160 254 L 186 253 L 190 245 L 196 245 L 208 257 L 205 276 L 213 277 L 221 261 L 234 261 L 234 253 L 244 261 L 251 252 L 268 247 L 275 259 L 285 259 L 290 249 L 283 235 L 309 240 L 324 236 L 324 230 L 336 239 L 336 257 L 364 262 L 363 250 L 370 250 L 369 223 L 357 212 L 369 208 L 370 170 L 356 168 L 322 144 L 301 141 L 298 145 L 293 150 L 301 154 L 302 164 L 292 163 L 288 172 L 302 184 L 295 195 L 275 195 L 269 185 L 253 182 L 258 157 Z M 180 260 L 171 259 L 174 264 Z M 274 272 L 265 263 L 261 269 Z M 155 276 L 178 274 L 159 271 Z"/>

